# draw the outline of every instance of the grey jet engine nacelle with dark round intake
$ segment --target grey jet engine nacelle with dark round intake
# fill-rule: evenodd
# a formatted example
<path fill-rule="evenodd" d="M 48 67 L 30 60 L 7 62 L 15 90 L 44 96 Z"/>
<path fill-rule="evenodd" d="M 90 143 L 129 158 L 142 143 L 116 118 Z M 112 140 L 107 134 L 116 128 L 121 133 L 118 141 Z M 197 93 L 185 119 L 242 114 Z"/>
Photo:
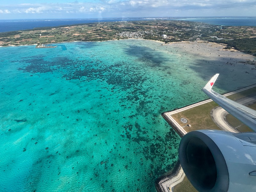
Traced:
<path fill-rule="evenodd" d="M 180 141 L 180 164 L 200 192 L 255 192 L 255 143 L 255 132 L 192 131 Z"/>

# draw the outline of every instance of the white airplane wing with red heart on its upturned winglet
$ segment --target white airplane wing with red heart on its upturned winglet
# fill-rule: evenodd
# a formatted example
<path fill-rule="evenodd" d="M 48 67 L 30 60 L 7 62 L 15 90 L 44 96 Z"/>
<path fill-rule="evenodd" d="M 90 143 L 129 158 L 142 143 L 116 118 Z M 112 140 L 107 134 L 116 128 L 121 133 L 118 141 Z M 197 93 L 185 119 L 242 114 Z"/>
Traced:
<path fill-rule="evenodd" d="M 212 86 L 215 83 L 219 74 L 214 75 L 211 80 L 203 87 L 202 91 L 209 96 L 213 101 L 219 104 L 224 108 L 228 113 L 235 116 L 241 122 L 250 127 L 253 131 L 256 132 L 256 111 L 248 108 L 244 105 L 241 105 L 233 100 L 228 99 L 227 97 L 222 96 L 221 94 L 212 90 Z"/>

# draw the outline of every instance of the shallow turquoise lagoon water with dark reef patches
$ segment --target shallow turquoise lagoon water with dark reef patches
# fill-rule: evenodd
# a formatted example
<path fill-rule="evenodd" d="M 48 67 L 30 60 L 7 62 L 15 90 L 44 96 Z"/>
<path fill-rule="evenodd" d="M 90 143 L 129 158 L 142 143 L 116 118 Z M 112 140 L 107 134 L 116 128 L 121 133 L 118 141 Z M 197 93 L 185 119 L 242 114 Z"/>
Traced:
<path fill-rule="evenodd" d="M 58 45 L 0 48 L 0 191 L 156 191 L 180 141 L 161 113 L 217 72 L 216 91 L 253 84 L 154 41 Z"/>

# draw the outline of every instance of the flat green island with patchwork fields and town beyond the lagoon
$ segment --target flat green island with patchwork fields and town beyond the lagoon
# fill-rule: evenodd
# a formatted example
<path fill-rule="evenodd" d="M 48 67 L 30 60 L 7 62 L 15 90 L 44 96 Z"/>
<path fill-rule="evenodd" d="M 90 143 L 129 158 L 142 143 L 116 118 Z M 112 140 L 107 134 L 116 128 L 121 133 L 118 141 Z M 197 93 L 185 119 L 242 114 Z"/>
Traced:
<path fill-rule="evenodd" d="M 116 21 L 0 33 L 0 46 L 142 38 L 164 43 L 204 40 L 256 53 L 256 27 L 176 20 Z"/>

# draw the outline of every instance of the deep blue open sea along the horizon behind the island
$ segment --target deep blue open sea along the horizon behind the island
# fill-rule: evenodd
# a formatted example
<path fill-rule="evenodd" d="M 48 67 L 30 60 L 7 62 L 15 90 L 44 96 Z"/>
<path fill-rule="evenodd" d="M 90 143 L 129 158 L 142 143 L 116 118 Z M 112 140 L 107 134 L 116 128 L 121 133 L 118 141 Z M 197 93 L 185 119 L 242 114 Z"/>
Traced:
<path fill-rule="evenodd" d="M 51 19 L 51 20 L 0 20 L 0 32 L 32 29 L 37 27 L 54 27 L 106 21 L 134 20 L 188 20 L 204 22 L 212 25 L 256 26 L 256 17 L 137 17 L 137 18 L 105 18 L 105 19 Z"/>

